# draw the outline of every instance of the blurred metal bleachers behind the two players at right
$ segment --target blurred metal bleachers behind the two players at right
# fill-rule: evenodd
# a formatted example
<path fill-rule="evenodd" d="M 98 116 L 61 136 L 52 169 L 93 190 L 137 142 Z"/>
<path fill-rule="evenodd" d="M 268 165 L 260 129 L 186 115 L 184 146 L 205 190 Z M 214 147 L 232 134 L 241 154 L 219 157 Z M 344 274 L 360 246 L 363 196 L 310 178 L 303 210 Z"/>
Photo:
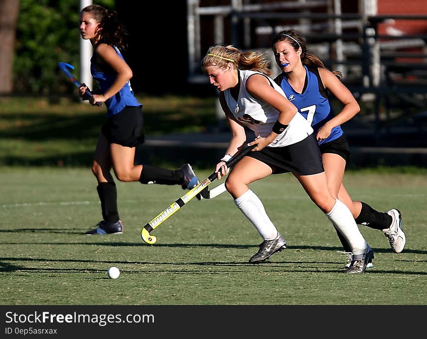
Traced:
<path fill-rule="evenodd" d="M 346 123 L 350 137 L 352 131 L 359 136 L 358 145 L 427 147 L 427 15 L 379 16 L 361 6 L 369 1 L 358 1 L 351 13 L 339 0 L 204 2 L 187 0 L 189 82 L 206 83 L 200 59 L 215 44 L 263 51 L 279 73 L 270 41 L 294 28 L 311 53 L 343 73 L 342 81 L 361 103 L 361 113 Z M 381 33 L 391 20 L 424 21 L 426 30 Z"/>

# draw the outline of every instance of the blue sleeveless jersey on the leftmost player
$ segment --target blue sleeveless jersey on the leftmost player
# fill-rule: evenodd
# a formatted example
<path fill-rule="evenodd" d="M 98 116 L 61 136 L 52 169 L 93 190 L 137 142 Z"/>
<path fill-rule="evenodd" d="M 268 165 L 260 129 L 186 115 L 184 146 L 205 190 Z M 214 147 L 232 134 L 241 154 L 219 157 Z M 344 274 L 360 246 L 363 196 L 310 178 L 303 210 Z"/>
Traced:
<path fill-rule="evenodd" d="M 124 60 L 123 55 L 120 53 L 118 48 L 115 46 L 113 47 L 120 58 Z M 94 55 L 90 59 L 90 62 L 90 73 L 92 74 L 92 77 L 98 82 L 101 92 L 105 93 L 115 81 L 117 73 L 114 71 L 106 72 L 97 70 L 94 66 Z M 142 106 L 142 104 L 140 104 L 133 95 L 131 82 L 128 81 L 119 92 L 105 101 L 105 106 L 107 106 L 107 115 L 112 116 L 123 110 L 125 106 Z"/>

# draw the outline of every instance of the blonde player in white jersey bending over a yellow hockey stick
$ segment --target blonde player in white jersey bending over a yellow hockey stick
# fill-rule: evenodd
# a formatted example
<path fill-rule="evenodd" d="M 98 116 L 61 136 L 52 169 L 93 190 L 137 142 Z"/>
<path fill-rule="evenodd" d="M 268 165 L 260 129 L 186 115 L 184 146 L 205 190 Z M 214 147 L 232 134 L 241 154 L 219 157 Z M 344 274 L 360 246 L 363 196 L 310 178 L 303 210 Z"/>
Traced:
<path fill-rule="evenodd" d="M 216 164 L 218 178 L 228 175 L 225 186 L 236 206 L 255 226 L 263 242 L 249 262 L 263 262 L 286 248 L 286 240 L 268 217 L 263 203 L 248 185 L 271 174 L 291 172 L 317 207 L 349 243 L 351 265 L 345 273 L 363 273 L 374 253 L 367 245 L 350 210 L 331 196 L 313 129 L 269 78 L 268 60 L 257 52 L 233 46 L 213 46 L 201 61 L 230 125 L 231 139 Z M 254 131 L 257 145 L 229 173 L 225 162 L 246 143 L 245 127 Z"/>

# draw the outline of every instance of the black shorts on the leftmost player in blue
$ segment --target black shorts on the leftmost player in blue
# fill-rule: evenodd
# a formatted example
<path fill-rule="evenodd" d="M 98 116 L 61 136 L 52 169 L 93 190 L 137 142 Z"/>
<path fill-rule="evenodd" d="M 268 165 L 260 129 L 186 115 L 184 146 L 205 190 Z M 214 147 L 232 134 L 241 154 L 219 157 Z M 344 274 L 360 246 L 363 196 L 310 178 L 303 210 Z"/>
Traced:
<path fill-rule="evenodd" d="M 102 125 L 102 134 L 110 144 L 135 147 L 144 143 L 141 106 L 126 106 L 119 113 L 109 116 Z"/>

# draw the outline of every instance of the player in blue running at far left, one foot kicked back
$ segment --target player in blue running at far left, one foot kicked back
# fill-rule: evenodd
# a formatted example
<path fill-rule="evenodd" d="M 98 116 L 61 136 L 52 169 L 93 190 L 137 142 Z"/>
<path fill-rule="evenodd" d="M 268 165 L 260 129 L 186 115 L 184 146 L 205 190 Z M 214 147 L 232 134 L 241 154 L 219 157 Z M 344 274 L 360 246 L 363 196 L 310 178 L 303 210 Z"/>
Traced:
<path fill-rule="evenodd" d="M 126 29 L 117 20 L 117 13 L 99 5 L 84 7 L 80 13 L 80 32 L 94 47 L 90 71 L 99 85 L 93 97 L 88 98 L 84 95 L 87 87 L 82 84 L 80 95 L 92 105 L 103 102 L 107 107 L 107 121 L 102 125 L 92 163 L 103 220 L 86 234 L 120 234 L 123 225 L 117 210 L 112 168 L 118 180 L 143 184 L 179 184 L 183 189 L 191 189 L 198 179 L 188 163 L 177 170 L 134 164 L 135 148 L 143 142 L 142 104 L 133 95 L 132 70 L 120 52 L 126 47 Z"/>

